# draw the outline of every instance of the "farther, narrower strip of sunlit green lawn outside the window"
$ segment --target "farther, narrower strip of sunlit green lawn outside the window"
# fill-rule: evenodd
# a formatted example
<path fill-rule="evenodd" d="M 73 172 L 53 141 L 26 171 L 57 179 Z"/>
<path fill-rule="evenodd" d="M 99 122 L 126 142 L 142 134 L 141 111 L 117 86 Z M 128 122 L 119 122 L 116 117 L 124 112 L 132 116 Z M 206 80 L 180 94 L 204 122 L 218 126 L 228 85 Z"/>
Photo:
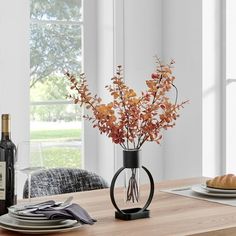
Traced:
<path fill-rule="evenodd" d="M 30 138 L 33 140 L 68 140 L 81 139 L 80 129 L 61 129 L 61 130 L 35 130 L 31 131 Z"/>

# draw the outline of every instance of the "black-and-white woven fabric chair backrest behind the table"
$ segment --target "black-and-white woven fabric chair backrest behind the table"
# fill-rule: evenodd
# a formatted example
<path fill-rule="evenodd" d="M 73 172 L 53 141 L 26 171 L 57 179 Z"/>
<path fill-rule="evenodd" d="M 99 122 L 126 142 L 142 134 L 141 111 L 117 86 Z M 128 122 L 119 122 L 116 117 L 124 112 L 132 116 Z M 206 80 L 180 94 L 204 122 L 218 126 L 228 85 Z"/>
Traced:
<path fill-rule="evenodd" d="M 75 168 L 53 168 L 32 174 L 30 195 L 40 197 L 107 187 L 106 181 L 95 173 Z M 28 180 L 26 180 L 23 190 L 23 198 L 27 197 Z"/>

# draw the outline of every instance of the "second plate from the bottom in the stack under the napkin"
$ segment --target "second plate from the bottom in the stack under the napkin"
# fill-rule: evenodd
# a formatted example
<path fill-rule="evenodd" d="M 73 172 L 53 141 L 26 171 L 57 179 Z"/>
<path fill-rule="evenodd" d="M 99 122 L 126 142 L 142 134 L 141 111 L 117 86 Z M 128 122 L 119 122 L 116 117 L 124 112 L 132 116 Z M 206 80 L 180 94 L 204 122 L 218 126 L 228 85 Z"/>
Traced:
<path fill-rule="evenodd" d="M 68 228 L 76 225 L 78 222 L 76 220 L 64 220 L 58 222 L 58 224 L 53 225 L 32 225 L 27 223 L 18 222 L 15 218 L 8 214 L 0 216 L 0 225 L 7 227 L 13 227 L 18 229 L 60 229 Z"/>

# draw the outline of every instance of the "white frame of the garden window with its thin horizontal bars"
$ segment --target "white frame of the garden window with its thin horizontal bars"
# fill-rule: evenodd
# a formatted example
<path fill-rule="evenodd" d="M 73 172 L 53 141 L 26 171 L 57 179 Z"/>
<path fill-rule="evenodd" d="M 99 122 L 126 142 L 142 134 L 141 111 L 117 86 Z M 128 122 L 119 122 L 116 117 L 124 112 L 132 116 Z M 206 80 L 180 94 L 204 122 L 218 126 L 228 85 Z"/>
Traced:
<path fill-rule="evenodd" d="M 92 86 L 93 90 L 96 91 L 97 84 L 96 84 L 96 56 L 97 56 L 97 44 L 96 40 L 96 10 L 97 10 L 97 3 L 93 0 L 82 0 L 82 20 L 81 21 L 61 21 L 61 20 L 37 20 L 37 19 L 30 19 L 30 24 L 37 23 L 37 24 L 53 24 L 53 23 L 60 23 L 60 24 L 74 24 L 80 25 L 81 27 L 81 69 L 87 74 L 89 78 L 89 83 Z M 93 49 L 93 50 L 91 50 Z M 73 104 L 72 101 L 68 100 L 50 100 L 50 101 L 34 101 L 30 102 L 29 106 L 32 105 L 62 105 L 62 104 Z M 82 110 L 84 113 L 84 110 Z M 88 169 L 91 171 L 96 172 L 97 161 L 97 134 L 94 134 L 94 130 L 91 129 L 90 124 L 88 122 L 82 121 L 82 148 L 81 148 L 81 168 Z M 92 147 L 94 148 L 91 148 Z"/>

